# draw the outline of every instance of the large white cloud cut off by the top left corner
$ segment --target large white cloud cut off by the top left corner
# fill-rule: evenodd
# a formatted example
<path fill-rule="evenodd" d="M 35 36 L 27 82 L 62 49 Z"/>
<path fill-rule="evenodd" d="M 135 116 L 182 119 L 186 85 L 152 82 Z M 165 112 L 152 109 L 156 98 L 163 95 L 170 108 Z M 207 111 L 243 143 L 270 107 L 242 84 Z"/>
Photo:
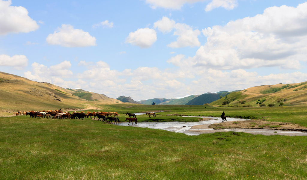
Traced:
<path fill-rule="evenodd" d="M 29 33 L 39 28 L 28 16 L 28 10 L 21 6 L 10 6 L 11 0 L 0 0 L 0 35 L 7 33 Z"/>

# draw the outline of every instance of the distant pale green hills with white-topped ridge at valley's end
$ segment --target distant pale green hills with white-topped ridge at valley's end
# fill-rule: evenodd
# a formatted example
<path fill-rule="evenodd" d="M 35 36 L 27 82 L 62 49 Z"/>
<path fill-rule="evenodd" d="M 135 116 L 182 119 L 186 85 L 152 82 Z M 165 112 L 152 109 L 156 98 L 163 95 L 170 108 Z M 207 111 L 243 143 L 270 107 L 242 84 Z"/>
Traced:
<path fill-rule="evenodd" d="M 156 105 L 185 105 L 191 99 L 199 95 L 190 95 L 184 98 L 154 98 L 138 101 L 142 104 L 151 105 L 152 102 L 155 102 Z"/>

